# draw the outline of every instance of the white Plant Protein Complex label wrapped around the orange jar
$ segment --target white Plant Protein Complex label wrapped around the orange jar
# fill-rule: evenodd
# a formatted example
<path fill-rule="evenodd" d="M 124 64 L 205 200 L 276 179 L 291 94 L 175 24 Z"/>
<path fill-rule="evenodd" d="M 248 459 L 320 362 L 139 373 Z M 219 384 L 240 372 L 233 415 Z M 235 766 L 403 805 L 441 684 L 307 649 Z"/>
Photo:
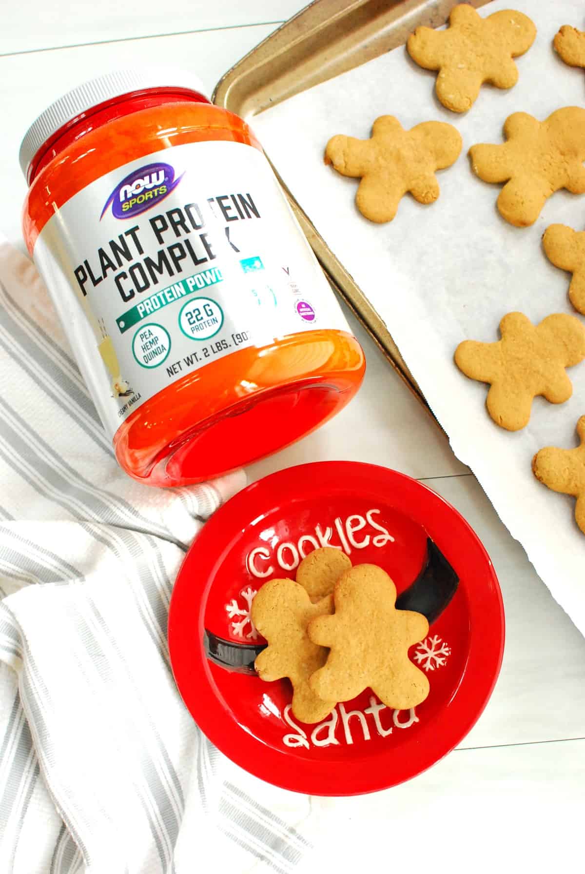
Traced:
<path fill-rule="evenodd" d="M 173 146 L 107 173 L 33 255 L 112 436 L 238 349 L 349 330 L 265 156 L 242 143 Z"/>

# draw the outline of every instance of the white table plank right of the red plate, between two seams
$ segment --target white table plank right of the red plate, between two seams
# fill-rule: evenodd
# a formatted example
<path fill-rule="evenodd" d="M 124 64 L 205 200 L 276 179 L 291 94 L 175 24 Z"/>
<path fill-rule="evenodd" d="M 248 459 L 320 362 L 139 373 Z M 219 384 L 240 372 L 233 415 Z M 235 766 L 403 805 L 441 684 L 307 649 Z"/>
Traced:
<path fill-rule="evenodd" d="M 461 746 L 585 736 L 585 638 L 537 577 L 474 476 L 426 484 L 477 531 L 498 574 L 506 612 L 499 681 Z"/>

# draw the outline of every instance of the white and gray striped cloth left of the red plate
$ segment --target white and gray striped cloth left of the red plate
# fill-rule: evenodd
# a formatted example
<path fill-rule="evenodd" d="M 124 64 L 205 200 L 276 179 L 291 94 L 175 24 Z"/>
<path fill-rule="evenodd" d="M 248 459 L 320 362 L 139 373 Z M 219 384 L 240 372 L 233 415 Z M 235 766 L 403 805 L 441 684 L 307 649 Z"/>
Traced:
<path fill-rule="evenodd" d="M 169 668 L 177 569 L 244 475 L 124 475 L 35 268 L 3 240 L 0 347 L 0 871 L 293 871 L 311 800 L 218 753 Z"/>

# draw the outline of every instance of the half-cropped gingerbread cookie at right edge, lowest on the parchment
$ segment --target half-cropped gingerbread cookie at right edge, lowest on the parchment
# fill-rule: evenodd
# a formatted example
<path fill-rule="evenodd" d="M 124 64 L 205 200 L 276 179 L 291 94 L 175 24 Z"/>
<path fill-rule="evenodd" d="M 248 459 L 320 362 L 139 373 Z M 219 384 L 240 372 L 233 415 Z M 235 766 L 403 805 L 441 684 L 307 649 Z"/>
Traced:
<path fill-rule="evenodd" d="M 575 521 L 585 534 L 585 416 L 577 422 L 576 449 L 547 446 L 533 457 L 533 474 L 553 491 L 576 497 Z"/>

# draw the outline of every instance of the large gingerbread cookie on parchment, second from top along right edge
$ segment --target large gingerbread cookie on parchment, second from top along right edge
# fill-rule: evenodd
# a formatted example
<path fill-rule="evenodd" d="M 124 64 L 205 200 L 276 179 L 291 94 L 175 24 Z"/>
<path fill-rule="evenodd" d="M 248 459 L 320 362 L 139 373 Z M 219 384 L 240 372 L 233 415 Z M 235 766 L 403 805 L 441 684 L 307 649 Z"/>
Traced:
<path fill-rule="evenodd" d="M 504 124 L 503 145 L 471 146 L 473 172 L 484 182 L 505 182 L 500 215 L 511 225 L 533 225 L 547 198 L 566 188 L 585 193 L 585 109 L 557 109 L 545 121 L 516 112 Z"/>

